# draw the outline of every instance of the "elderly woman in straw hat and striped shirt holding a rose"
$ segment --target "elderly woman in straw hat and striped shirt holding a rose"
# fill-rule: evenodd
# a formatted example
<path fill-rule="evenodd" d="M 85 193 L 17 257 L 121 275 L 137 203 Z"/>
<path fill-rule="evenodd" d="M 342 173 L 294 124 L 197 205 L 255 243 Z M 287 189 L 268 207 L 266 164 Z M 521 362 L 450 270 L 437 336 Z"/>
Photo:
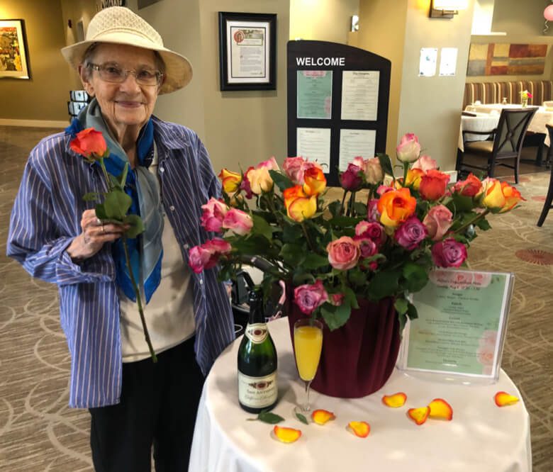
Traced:
<path fill-rule="evenodd" d="M 11 214 L 8 254 L 35 277 L 56 283 L 61 325 L 71 353 L 69 405 L 91 412 L 98 471 L 186 471 L 203 374 L 231 342 L 232 312 L 215 269 L 194 274 L 187 249 L 208 235 L 201 204 L 219 184 L 199 137 L 152 116 L 157 95 L 191 79 L 185 57 L 129 9 L 94 16 L 86 40 L 62 49 L 94 99 L 65 133 L 31 152 Z M 126 189 L 145 222 L 133 246 L 150 359 L 129 290 L 120 238 L 128 227 L 96 217 L 84 193 L 101 191 L 103 175 L 69 147 L 95 128 L 128 162 Z M 116 174 L 116 172 L 113 172 Z"/>

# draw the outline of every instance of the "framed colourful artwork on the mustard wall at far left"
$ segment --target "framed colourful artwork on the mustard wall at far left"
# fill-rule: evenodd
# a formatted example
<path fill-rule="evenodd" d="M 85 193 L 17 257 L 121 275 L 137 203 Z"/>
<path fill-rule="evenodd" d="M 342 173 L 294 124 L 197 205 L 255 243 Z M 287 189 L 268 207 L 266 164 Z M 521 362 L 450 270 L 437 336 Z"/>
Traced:
<path fill-rule="evenodd" d="M 30 79 L 23 20 L 0 20 L 0 79 Z"/>

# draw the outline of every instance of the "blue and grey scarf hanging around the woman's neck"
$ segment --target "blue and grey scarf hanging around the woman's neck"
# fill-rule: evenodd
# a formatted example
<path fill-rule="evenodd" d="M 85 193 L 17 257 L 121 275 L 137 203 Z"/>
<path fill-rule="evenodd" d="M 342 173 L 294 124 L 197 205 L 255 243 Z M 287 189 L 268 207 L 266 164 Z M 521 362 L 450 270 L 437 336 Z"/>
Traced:
<path fill-rule="evenodd" d="M 104 159 L 104 164 L 110 174 L 116 177 L 120 176 L 125 167 L 125 162 L 128 162 L 128 157 L 121 145 L 111 135 L 104 118 L 101 116 L 100 106 L 96 99 L 93 99 L 79 113 L 79 116 L 72 120 L 66 132 L 74 136 L 85 128 L 94 128 L 104 135 L 110 151 L 109 158 Z M 160 186 L 157 176 L 147 169 L 152 163 L 155 152 L 154 125 L 151 118 L 140 130 L 136 145 L 138 165 L 134 172 L 133 169 L 129 169 L 125 192 L 133 200 L 128 213 L 140 215 L 145 230 L 137 238 L 129 238 L 127 247 L 135 281 L 140 286 L 140 290 L 143 291 L 146 303 L 148 303 L 157 286 L 160 285 L 163 257 L 163 211 L 160 200 Z M 136 301 L 135 291 L 125 262 L 123 242 L 117 240 L 112 247 L 118 286 L 121 287 L 123 293 L 130 300 Z"/>

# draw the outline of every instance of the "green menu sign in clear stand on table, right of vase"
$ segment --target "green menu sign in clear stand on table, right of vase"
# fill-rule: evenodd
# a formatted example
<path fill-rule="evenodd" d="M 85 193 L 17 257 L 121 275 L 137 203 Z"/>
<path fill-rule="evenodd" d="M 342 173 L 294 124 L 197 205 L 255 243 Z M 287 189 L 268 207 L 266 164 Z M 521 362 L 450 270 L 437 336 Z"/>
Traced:
<path fill-rule="evenodd" d="M 497 380 L 514 274 L 435 269 L 413 295 L 398 368 Z"/>

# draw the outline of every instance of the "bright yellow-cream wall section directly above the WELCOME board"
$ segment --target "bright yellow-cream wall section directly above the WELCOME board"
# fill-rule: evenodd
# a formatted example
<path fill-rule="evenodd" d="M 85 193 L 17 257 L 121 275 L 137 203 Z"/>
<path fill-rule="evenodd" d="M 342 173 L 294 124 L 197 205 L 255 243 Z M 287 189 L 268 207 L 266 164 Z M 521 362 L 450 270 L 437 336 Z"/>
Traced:
<path fill-rule="evenodd" d="M 290 0 L 291 40 L 347 43 L 351 17 L 359 14 L 359 0 Z"/>

